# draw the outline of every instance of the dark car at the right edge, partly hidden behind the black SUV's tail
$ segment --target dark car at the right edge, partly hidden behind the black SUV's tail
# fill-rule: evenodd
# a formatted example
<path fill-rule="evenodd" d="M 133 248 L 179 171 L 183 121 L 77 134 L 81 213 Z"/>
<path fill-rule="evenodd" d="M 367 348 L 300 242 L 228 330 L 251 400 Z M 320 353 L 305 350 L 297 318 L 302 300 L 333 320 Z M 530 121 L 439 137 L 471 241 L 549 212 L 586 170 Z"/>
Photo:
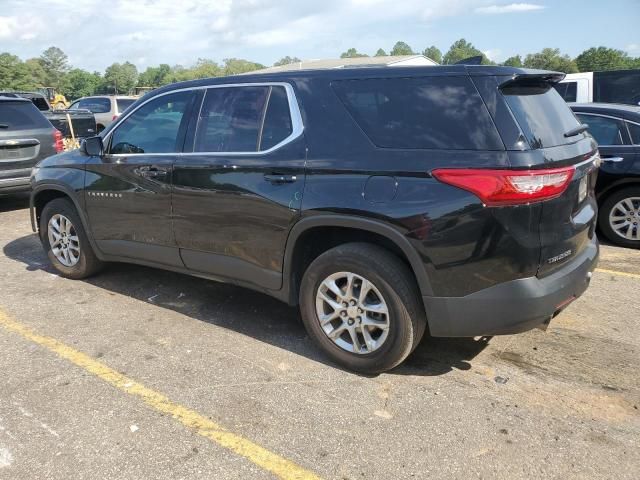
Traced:
<path fill-rule="evenodd" d="M 598 226 L 611 242 L 640 248 L 640 107 L 570 104 L 598 142 Z"/>

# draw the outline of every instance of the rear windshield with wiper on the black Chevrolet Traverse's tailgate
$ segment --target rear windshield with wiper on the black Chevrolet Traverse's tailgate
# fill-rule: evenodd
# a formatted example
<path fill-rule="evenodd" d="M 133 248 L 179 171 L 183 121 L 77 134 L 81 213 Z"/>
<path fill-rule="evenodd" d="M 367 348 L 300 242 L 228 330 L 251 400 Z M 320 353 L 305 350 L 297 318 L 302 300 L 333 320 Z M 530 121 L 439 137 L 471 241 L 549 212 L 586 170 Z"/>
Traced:
<path fill-rule="evenodd" d="M 580 123 L 550 84 L 515 84 L 501 90 L 531 148 L 566 145 L 584 138 L 584 133 L 564 136 Z"/>

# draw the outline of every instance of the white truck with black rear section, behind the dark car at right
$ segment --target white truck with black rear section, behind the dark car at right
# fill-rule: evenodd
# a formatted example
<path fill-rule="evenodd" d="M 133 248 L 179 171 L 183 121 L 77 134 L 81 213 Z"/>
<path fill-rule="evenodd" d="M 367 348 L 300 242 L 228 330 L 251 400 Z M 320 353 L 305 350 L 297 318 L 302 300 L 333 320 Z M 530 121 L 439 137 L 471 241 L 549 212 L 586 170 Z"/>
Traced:
<path fill-rule="evenodd" d="M 640 69 L 570 73 L 555 88 L 567 102 L 640 105 Z"/>

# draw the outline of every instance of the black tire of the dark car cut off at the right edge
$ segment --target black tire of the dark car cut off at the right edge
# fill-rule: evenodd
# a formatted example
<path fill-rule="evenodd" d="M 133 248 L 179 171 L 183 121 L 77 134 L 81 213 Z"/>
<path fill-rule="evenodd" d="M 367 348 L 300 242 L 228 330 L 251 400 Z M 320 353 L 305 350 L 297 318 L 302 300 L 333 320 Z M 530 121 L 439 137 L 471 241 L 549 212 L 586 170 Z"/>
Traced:
<path fill-rule="evenodd" d="M 623 217 L 623 211 L 619 209 L 620 202 L 627 200 L 627 205 L 632 205 L 633 209 L 627 208 L 627 219 L 621 219 L 619 223 L 628 223 L 627 226 L 621 228 L 620 233 L 611 225 L 609 221 L 610 215 L 616 214 Z M 635 222 L 635 225 L 633 225 Z M 640 186 L 633 186 L 618 190 L 609 195 L 600 206 L 598 213 L 598 225 L 602 234 L 612 243 L 621 247 L 640 248 Z M 631 229 L 632 238 L 625 238 Z"/>

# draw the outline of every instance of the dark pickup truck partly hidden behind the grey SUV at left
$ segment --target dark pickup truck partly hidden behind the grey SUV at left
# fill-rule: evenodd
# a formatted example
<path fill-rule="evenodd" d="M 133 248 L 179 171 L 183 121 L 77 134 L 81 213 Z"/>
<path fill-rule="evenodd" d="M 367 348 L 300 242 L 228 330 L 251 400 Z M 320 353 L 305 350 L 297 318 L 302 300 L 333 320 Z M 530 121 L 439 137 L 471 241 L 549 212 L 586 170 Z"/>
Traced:
<path fill-rule="evenodd" d="M 96 119 L 89 110 L 63 110 L 53 109 L 47 98 L 41 93 L 35 92 L 0 92 L 0 96 L 20 97 L 31 102 L 42 112 L 47 120 L 62 133 L 64 138 L 92 137 L 98 133 Z M 67 114 L 69 117 L 67 118 Z M 71 120 L 71 126 L 69 125 Z M 73 135 L 71 134 L 73 127 Z"/>

